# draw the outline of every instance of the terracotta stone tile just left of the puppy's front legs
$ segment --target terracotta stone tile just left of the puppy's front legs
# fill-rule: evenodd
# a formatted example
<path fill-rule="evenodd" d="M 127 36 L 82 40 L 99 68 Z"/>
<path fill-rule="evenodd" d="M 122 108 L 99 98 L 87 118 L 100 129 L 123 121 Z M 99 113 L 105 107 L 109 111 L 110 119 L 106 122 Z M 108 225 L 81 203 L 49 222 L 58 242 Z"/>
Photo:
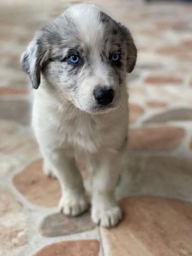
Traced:
<path fill-rule="evenodd" d="M 59 183 L 42 172 L 42 160 L 32 162 L 17 174 L 13 184 L 32 204 L 46 207 L 58 205 L 61 196 Z"/>

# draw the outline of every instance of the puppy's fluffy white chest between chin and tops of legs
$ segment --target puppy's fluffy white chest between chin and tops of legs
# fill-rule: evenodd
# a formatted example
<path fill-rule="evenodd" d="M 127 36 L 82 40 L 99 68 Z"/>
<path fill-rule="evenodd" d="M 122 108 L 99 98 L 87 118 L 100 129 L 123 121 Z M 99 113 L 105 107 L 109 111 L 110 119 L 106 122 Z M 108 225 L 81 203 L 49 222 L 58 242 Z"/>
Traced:
<path fill-rule="evenodd" d="M 70 145 L 78 151 L 95 153 L 101 147 L 117 148 L 126 136 L 126 110 L 91 115 L 50 99 L 40 90 L 35 94 L 33 127 L 38 141 L 47 147 Z"/>

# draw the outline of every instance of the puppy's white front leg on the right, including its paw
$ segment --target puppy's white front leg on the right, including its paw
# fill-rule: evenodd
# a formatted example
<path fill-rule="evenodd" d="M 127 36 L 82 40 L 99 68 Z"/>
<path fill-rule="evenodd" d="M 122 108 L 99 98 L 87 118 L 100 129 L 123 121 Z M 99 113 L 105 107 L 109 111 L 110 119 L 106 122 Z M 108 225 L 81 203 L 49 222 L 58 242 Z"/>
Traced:
<path fill-rule="evenodd" d="M 94 164 L 92 220 L 103 227 L 116 226 L 122 211 L 115 200 L 115 186 L 121 169 L 120 154 L 103 154 Z"/>

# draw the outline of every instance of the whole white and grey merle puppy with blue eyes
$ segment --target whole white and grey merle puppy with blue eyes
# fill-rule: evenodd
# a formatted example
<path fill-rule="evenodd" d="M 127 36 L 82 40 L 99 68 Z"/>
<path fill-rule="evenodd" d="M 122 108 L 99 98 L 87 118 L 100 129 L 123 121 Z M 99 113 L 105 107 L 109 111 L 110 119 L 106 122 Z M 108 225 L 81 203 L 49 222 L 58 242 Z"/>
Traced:
<path fill-rule="evenodd" d="M 122 219 L 114 190 L 127 144 L 126 72 L 136 58 L 130 31 L 92 4 L 68 8 L 22 55 L 38 89 L 33 129 L 45 173 L 60 182 L 63 214 L 77 216 L 89 207 L 75 164 L 80 158 L 91 175 L 93 222 L 112 227 Z"/>

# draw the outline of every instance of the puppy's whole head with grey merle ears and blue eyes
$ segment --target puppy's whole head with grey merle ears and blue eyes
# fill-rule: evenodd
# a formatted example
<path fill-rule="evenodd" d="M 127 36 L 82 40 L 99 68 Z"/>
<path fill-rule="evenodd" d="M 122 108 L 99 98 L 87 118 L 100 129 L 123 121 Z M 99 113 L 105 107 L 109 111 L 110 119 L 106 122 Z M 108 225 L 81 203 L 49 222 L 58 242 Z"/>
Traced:
<path fill-rule="evenodd" d="M 41 74 L 63 101 L 94 113 L 118 106 L 136 58 L 129 30 L 95 5 L 79 4 L 36 33 L 22 65 L 34 89 Z"/>

